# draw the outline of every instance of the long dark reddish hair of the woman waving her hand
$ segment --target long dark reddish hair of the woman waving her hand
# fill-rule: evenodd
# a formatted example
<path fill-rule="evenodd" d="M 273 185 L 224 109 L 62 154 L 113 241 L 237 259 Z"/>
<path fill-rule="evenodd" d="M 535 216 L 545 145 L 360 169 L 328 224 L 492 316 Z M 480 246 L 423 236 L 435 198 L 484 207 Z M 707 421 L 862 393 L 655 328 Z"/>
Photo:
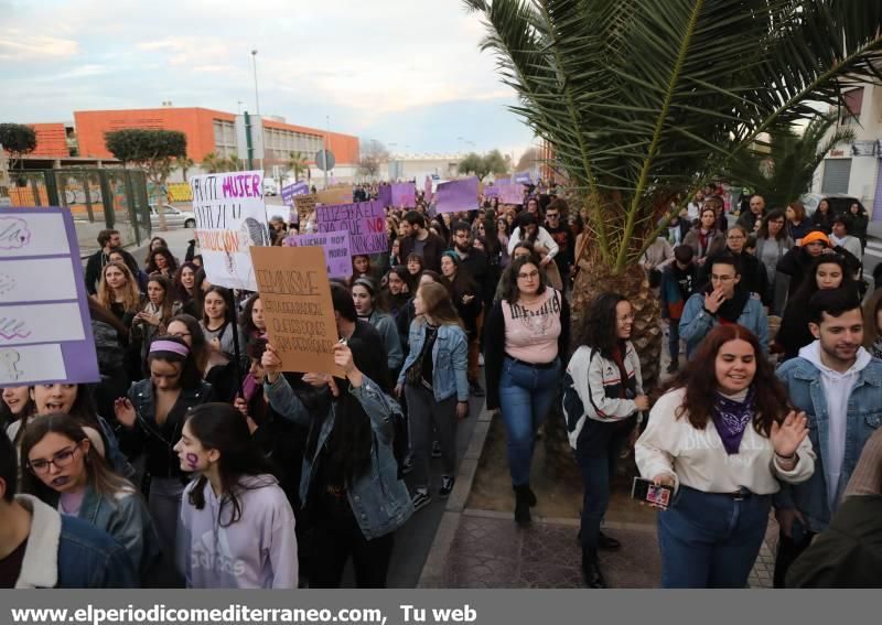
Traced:
<path fill-rule="evenodd" d="M 738 324 L 721 324 L 708 333 L 698 346 L 692 359 L 671 380 L 664 391 L 685 388 L 682 403 L 676 410 L 676 418 L 687 416 L 689 423 L 703 430 L 712 420 L 717 402 L 713 389 L 717 387 L 717 354 L 730 341 L 746 341 L 753 347 L 756 373 L 751 386 L 754 390 L 753 429 L 768 438 L 772 423 L 781 422 L 793 410 L 787 389 L 775 376 L 775 369 L 763 355 L 760 341 L 746 327 Z"/>

